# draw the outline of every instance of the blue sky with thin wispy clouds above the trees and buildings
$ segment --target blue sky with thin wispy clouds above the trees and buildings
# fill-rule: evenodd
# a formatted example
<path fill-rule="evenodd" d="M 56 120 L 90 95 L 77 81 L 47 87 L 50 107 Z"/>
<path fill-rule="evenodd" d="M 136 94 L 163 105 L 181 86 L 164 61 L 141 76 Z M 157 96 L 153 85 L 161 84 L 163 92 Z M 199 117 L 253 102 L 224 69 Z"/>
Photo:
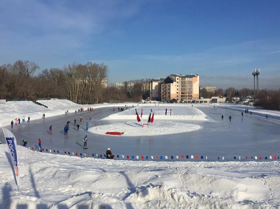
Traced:
<path fill-rule="evenodd" d="M 199 74 L 279 89 L 280 1 L 1 1 L 0 65 L 104 62 L 109 83 Z"/>

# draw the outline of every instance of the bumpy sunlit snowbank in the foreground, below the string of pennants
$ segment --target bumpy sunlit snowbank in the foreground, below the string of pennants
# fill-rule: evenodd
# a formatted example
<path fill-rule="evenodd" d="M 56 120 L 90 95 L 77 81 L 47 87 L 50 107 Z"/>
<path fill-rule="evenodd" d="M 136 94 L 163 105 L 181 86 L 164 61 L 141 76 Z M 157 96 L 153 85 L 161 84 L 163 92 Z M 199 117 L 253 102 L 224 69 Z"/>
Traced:
<path fill-rule="evenodd" d="M 280 163 L 79 158 L 0 145 L 0 208 L 279 208 Z M 28 160 L 27 160 L 28 159 Z"/>

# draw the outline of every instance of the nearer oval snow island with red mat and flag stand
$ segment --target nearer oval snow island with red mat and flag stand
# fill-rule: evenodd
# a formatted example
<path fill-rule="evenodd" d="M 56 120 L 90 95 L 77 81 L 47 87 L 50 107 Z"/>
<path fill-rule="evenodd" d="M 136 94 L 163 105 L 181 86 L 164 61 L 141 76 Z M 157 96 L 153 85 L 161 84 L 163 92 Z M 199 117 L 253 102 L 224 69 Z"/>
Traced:
<path fill-rule="evenodd" d="M 144 126 L 142 128 L 141 123 L 126 122 L 126 123 L 115 123 L 89 128 L 90 133 L 106 135 L 107 131 L 110 132 L 124 132 L 122 136 L 154 136 L 154 135 L 166 135 L 174 133 L 184 133 L 190 131 L 196 131 L 203 128 L 203 126 L 187 123 L 178 123 L 170 121 L 158 121 L 150 123 L 149 127 Z M 111 135 L 117 136 L 117 135 Z"/>

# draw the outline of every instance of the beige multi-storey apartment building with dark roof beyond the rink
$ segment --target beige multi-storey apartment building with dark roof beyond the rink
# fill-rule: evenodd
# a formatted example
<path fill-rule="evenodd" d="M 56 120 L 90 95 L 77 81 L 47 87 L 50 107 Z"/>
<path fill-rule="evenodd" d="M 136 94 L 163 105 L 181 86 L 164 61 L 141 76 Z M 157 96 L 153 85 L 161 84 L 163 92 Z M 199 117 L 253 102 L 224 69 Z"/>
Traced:
<path fill-rule="evenodd" d="M 199 75 L 171 74 L 165 79 L 152 79 L 150 99 L 158 101 L 199 99 Z"/>

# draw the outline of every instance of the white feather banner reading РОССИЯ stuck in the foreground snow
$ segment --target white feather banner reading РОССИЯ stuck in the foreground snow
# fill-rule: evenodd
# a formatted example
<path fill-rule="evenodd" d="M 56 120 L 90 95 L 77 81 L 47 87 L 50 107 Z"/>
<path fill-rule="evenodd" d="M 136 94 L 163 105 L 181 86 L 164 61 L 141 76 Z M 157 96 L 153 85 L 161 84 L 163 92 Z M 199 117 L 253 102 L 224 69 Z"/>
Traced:
<path fill-rule="evenodd" d="M 8 150 L 10 152 L 10 157 L 11 157 L 11 160 L 13 163 L 15 179 L 17 181 L 17 185 L 19 186 L 21 184 L 21 179 L 20 179 L 20 174 L 19 174 L 18 167 L 17 167 L 17 141 L 12 132 L 10 132 L 6 128 L 2 128 L 2 129 L 3 129 L 5 139 L 6 139 Z"/>

